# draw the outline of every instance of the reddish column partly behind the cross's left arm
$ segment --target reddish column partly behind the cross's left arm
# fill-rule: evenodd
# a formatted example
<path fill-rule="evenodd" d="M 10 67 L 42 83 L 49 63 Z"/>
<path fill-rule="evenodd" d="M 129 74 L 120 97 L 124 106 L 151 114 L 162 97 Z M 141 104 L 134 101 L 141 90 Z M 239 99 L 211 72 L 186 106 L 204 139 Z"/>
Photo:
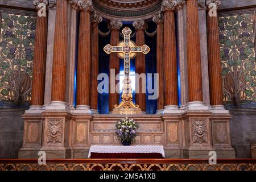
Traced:
<path fill-rule="evenodd" d="M 110 44 L 117 46 L 119 43 L 119 29 L 122 27 L 122 22 L 119 20 L 112 20 L 110 22 L 111 37 Z M 118 80 L 115 80 L 115 76 L 119 74 L 119 57 L 117 53 L 111 53 L 109 56 L 109 111 L 113 111 L 114 105 L 119 104 L 119 93 L 115 90 Z M 111 74 L 111 70 L 114 69 L 115 74 Z M 114 76 L 114 78 L 113 78 Z M 111 82 L 115 84 L 111 84 Z"/>

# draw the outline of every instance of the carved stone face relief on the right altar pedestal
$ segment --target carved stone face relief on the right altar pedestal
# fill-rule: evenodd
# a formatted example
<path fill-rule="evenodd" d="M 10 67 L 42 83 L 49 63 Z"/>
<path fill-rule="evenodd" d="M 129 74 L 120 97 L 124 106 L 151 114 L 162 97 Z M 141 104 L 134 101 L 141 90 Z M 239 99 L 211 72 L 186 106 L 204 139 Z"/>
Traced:
<path fill-rule="evenodd" d="M 192 142 L 207 143 L 207 120 L 192 120 Z"/>

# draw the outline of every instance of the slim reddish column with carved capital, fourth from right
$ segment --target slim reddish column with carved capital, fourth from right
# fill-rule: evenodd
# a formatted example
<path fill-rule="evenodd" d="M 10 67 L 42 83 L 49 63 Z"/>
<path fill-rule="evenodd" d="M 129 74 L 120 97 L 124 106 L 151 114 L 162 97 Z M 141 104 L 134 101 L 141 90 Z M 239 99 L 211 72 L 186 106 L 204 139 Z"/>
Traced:
<path fill-rule="evenodd" d="M 164 14 L 162 11 L 153 17 L 153 22 L 157 26 L 156 73 L 159 74 L 158 110 L 156 113 L 162 114 L 164 109 Z"/>

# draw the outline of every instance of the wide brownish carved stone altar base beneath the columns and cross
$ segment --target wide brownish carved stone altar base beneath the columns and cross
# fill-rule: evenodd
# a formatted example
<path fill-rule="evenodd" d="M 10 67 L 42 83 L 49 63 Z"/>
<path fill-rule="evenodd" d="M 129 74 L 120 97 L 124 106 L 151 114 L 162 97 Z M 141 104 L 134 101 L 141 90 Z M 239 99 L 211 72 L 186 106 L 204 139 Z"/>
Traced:
<path fill-rule="evenodd" d="M 126 115 L 44 111 L 24 114 L 24 141 L 19 158 L 87 158 L 91 145 L 121 145 L 115 123 Z M 128 115 L 140 125 L 133 144 L 163 145 L 166 158 L 235 158 L 230 146 L 230 114 L 187 111 L 183 114 Z"/>

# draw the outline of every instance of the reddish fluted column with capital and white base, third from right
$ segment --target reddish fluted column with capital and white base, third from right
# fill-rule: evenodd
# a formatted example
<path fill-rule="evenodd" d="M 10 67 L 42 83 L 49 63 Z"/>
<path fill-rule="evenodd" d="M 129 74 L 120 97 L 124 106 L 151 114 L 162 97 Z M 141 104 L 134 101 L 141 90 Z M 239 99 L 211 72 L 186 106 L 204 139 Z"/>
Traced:
<path fill-rule="evenodd" d="M 177 59 L 175 36 L 175 10 L 174 1 L 163 1 L 164 11 L 164 113 L 177 112 Z"/>

